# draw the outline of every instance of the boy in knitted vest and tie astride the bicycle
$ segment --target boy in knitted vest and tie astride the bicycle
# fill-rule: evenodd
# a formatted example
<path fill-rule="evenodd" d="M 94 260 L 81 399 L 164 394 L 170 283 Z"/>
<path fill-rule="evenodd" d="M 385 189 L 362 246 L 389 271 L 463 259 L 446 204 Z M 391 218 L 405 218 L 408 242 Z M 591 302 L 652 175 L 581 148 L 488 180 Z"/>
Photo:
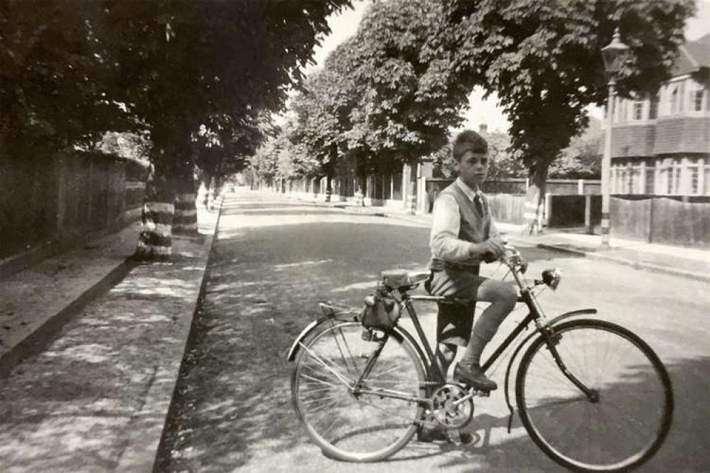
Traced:
<path fill-rule="evenodd" d="M 452 154 L 459 175 L 434 202 L 429 241 L 432 279 L 427 289 L 432 295 L 473 298 L 491 304 L 475 325 L 470 308 L 462 312 L 456 306 L 439 306 L 436 362 L 446 378 L 458 346 L 466 347 L 453 379 L 492 391 L 497 385 L 483 374 L 480 355 L 515 307 L 517 291 L 502 281 L 478 276 L 481 261 L 496 261 L 504 251 L 488 201 L 480 191 L 488 173 L 488 143 L 475 131 L 462 131 L 453 142 Z"/>

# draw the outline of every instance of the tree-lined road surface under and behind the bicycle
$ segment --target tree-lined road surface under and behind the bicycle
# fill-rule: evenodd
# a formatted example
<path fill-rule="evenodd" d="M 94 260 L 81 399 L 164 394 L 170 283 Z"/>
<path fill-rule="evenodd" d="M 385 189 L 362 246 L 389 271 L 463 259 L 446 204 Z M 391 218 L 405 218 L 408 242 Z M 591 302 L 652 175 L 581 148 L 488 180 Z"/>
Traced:
<path fill-rule="evenodd" d="M 424 224 L 352 214 L 238 191 L 227 194 L 202 309 L 166 437 L 166 472 L 549 472 L 559 471 L 515 418 L 508 434 L 502 392 L 476 403 L 475 441 L 410 444 L 387 462 L 329 460 L 309 442 L 291 408 L 286 354 L 318 315 L 318 300 L 360 306 L 386 268 L 423 268 Z M 672 377 L 676 411 L 660 452 L 641 471 L 710 469 L 710 292 L 707 283 L 615 263 L 520 246 L 530 273 L 558 266 L 556 293 L 539 298 L 548 315 L 596 307 L 641 335 Z M 486 274 L 502 276 L 488 265 Z M 433 308 L 420 310 L 434 330 Z M 501 332 L 525 313 L 513 312 Z M 493 371 L 502 384 L 505 363 Z M 501 390 L 502 391 L 502 390 Z"/>

